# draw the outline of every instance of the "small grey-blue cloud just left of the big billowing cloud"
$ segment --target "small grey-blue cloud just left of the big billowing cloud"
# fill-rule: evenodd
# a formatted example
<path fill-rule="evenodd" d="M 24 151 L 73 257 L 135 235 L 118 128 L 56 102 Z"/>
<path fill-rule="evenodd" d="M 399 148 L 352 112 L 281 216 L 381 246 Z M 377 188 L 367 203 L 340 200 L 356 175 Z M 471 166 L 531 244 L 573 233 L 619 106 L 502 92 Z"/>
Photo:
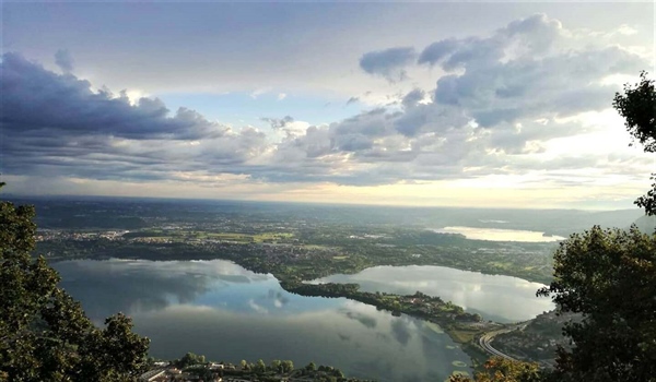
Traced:
<path fill-rule="evenodd" d="M 407 79 L 406 65 L 414 61 L 417 52 L 412 47 L 389 48 L 364 53 L 360 68 L 374 75 L 380 75 L 390 82 Z"/>

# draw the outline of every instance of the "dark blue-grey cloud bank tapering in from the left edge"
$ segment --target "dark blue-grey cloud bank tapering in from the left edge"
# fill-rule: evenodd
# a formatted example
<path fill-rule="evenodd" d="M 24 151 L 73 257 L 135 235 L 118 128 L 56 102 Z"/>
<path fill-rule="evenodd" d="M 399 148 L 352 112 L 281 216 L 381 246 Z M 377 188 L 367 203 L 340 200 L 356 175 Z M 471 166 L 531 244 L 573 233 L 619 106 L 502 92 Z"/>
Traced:
<path fill-rule="evenodd" d="M 131 105 L 125 93 L 115 97 L 94 92 L 87 81 L 55 74 L 15 53 L 2 57 L 1 86 L 2 123 L 22 133 L 47 130 L 137 140 L 194 140 L 224 133 L 224 128 L 194 110 L 180 108 L 168 117 L 169 110 L 157 98 Z"/>

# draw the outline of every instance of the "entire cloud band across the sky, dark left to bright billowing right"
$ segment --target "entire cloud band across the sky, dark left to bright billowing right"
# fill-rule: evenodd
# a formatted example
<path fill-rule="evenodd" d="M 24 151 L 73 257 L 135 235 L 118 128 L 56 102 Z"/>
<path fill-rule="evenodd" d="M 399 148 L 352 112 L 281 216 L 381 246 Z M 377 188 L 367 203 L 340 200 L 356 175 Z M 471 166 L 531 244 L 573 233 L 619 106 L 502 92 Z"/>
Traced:
<path fill-rule="evenodd" d="M 326 124 L 262 118 L 271 129 L 260 131 L 188 108 L 172 111 L 157 98 L 130 102 L 127 92 L 95 91 L 89 81 L 7 53 L 0 166 L 13 176 L 208 187 L 396 184 L 595 166 L 630 174 L 645 164 L 609 159 L 608 152 L 577 155 L 576 146 L 559 152 L 553 141 L 604 131 L 605 110 L 620 89 L 607 79 L 635 75 L 645 62 L 534 15 L 490 35 L 437 40 L 420 55 L 408 47 L 365 53 L 361 68 L 393 81 L 406 70 L 440 68 L 431 71 L 435 86 L 398 92 L 394 105 Z"/>

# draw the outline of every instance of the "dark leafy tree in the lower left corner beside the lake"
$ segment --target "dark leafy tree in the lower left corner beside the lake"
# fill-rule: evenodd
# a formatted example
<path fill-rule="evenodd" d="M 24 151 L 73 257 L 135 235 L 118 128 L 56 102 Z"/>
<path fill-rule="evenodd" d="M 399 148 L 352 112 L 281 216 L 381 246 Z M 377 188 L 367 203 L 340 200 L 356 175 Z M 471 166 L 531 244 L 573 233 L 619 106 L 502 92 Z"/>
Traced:
<path fill-rule="evenodd" d="M 0 202 L 0 380 L 133 380 L 149 339 L 120 313 L 93 325 L 46 260 L 32 259 L 34 215 L 33 206 Z"/>

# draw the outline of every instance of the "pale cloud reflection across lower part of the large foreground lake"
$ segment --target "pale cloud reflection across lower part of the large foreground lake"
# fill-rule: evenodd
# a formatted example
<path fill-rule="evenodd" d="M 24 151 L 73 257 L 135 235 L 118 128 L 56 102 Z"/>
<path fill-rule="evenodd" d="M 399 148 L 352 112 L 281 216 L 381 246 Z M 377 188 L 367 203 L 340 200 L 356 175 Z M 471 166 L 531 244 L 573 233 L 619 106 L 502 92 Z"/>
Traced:
<path fill-rule="evenodd" d="M 348 301 L 337 310 L 305 312 L 286 320 L 189 306 L 171 307 L 136 319 L 149 322 L 142 332 L 163 349 L 162 357 L 178 356 L 184 351 L 180 344 L 191 343 L 195 351 L 216 354 L 222 349 L 221 357 L 233 360 L 254 357 L 289 358 L 296 363 L 314 360 L 345 366 L 350 374 L 361 378 L 375 375 L 389 381 L 431 380 L 433 374 L 444 380 L 454 369 L 450 366 L 454 359 L 467 361 L 458 349 L 446 348 L 447 337 L 423 327 L 421 322 L 394 318 Z M 395 341 L 390 342 L 390 337 Z M 426 347 L 435 358 L 425 356 Z"/>

